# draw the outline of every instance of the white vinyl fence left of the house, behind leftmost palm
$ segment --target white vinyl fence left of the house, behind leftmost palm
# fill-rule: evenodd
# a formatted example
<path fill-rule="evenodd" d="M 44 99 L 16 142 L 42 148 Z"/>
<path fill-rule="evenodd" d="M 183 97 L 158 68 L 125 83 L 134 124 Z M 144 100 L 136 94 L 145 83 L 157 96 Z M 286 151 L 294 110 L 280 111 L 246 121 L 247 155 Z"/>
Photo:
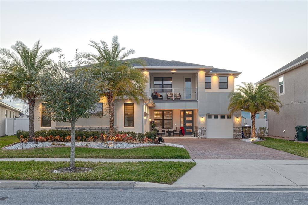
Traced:
<path fill-rule="evenodd" d="M 28 118 L 5 118 L 5 134 L 16 135 L 16 131 L 29 131 Z"/>

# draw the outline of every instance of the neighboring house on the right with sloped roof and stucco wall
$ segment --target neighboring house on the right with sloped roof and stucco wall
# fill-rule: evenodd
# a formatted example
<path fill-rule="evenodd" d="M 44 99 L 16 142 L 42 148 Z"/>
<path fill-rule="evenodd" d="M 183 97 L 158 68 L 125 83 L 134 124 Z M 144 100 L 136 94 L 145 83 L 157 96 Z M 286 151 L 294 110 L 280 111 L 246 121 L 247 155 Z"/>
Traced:
<path fill-rule="evenodd" d="M 307 76 L 308 52 L 255 83 L 274 86 L 282 102 L 278 115 L 267 111 L 269 135 L 293 138 L 296 125 L 308 125 Z"/>

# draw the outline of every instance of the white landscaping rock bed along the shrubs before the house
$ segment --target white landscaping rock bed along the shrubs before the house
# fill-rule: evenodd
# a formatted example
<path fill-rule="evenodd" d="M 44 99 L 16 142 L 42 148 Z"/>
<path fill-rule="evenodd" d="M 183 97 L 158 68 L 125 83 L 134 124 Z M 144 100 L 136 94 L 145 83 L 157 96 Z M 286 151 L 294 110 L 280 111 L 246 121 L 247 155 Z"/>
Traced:
<path fill-rule="evenodd" d="M 71 143 L 60 143 L 64 144 L 64 146 L 71 146 Z M 76 142 L 76 147 L 91 147 L 97 149 L 123 149 L 123 148 L 134 148 L 134 147 L 144 147 L 144 146 L 171 146 L 171 147 L 180 147 L 184 148 L 183 145 L 180 144 L 170 144 L 170 143 L 163 143 L 163 144 L 147 144 L 147 143 L 112 143 L 111 145 L 109 142 L 107 144 L 101 142 Z M 63 147 L 63 146 L 55 146 L 52 145 L 51 142 L 28 142 L 28 143 L 17 143 L 11 146 L 5 147 L 8 150 L 15 150 L 15 149 L 29 149 L 29 148 L 42 148 L 42 147 Z"/>

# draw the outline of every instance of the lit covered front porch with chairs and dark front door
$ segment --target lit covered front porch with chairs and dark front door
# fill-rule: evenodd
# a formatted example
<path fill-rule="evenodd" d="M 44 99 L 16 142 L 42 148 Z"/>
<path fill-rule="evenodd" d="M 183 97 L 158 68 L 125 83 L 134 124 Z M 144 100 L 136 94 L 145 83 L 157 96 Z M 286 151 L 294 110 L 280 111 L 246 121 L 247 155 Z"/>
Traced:
<path fill-rule="evenodd" d="M 197 125 L 197 109 L 150 109 L 150 119 L 154 127 L 161 128 L 160 136 L 191 137 Z"/>

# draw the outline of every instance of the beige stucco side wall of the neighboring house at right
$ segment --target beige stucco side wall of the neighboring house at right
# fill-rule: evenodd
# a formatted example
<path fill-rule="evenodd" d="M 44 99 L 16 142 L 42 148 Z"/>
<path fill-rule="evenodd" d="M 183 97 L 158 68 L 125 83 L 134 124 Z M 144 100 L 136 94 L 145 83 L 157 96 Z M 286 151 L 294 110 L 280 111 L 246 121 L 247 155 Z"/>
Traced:
<path fill-rule="evenodd" d="M 285 94 L 279 96 L 282 102 L 280 113 L 277 115 L 273 111 L 267 112 L 269 135 L 293 138 L 296 125 L 308 125 L 307 76 L 308 64 L 284 74 Z M 277 94 L 278 78 L 279 76 L 267 81 L 276 88 Z"/>

